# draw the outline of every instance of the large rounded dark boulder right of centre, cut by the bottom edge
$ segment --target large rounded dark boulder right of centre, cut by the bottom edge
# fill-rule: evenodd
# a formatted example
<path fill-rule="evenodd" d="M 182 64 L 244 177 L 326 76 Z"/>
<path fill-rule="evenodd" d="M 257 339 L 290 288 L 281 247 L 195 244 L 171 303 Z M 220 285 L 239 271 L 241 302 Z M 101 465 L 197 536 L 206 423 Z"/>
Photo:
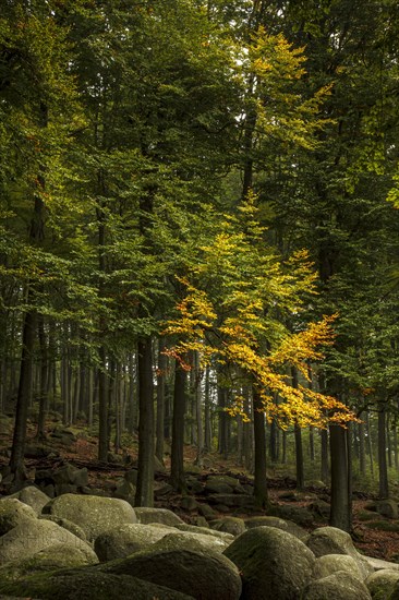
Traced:
<path fill-rule="evenodd" d="M 276 527 L 255 527 L 225 550 L 239 568 L 245 600 L 298 600 L 311 580 L 315 556 L 298 538 Z"/>

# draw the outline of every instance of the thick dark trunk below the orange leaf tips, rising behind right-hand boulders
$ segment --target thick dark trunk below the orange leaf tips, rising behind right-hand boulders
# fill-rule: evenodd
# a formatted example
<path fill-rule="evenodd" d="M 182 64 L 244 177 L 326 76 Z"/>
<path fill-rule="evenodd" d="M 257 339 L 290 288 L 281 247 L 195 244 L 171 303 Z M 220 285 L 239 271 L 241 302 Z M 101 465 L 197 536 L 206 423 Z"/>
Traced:
<path fill-rule="evenodd" d="M 340 425 L 331 424 L 331 511 L 329 523 L 332 527 L 350 531 L 352 525 L 352 501 L 350 495 L 350 472 L 348 466 L 348 434 Z"/>

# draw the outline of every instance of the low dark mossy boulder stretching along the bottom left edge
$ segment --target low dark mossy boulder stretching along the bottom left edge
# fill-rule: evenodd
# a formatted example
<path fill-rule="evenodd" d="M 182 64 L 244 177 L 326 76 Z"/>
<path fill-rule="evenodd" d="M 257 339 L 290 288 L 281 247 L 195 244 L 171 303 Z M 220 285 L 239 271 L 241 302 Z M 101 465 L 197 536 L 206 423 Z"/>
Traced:
<path fill-rule="evenodd" d="M 87 568 L 36 575 L 21 581 L 0 584 L 0 593 L 40 600 L 194 600 L 192 596 L 137 577 L 113 575 Z"/>

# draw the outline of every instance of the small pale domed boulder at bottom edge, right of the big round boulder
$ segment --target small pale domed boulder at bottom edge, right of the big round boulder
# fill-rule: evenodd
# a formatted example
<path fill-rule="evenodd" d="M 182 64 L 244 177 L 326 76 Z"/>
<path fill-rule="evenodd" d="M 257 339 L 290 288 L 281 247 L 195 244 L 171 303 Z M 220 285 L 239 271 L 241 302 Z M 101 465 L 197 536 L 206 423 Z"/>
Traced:
<path fill-rule="evenodd" d="M 311 581 L 303 590 L 302 600 L 371 600 L 366 586 L 353 575 L 337 571 L 323 579 Z"/>

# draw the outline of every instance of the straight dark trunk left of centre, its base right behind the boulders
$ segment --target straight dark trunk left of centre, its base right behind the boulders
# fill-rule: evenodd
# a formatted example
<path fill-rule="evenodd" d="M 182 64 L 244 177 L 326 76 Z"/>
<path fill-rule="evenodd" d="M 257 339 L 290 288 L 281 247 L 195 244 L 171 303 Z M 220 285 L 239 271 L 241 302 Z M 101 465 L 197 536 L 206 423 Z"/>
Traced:
<path fill-rule="evenodd" d="M 150 337 L 138 340 L 138 458 L 136 506 L 154 505 L 154 384 Z"/>

